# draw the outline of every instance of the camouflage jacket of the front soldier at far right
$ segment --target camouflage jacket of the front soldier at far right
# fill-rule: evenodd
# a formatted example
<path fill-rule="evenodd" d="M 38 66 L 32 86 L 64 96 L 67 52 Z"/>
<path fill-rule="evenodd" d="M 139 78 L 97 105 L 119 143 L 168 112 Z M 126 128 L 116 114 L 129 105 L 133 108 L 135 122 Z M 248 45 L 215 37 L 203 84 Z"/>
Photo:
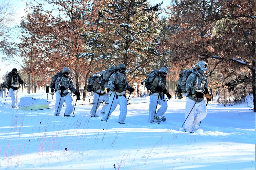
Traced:
<path fill-rule="evenodd" d="M 197 90 L 204 90 L 204 88 L 208 88 L 208 82 L 207 82 L 207 78 L 206 75 L 201 75 L 197 70 L 193 71 L 193 73 L 191 73 L 188 78 L 187 78 L 187 84 L 186 84 L 186 91 L 188 91 L 188 89 L 190 87 L 194 87 Z M 191 100 L 196 101 L 197 97 L 196 96 L 187 96 L 188 98 L 190 98 Z M 204 100 L 204 98 L 198 98 L 197 102 L 200 103 L 202 100 Z"/>

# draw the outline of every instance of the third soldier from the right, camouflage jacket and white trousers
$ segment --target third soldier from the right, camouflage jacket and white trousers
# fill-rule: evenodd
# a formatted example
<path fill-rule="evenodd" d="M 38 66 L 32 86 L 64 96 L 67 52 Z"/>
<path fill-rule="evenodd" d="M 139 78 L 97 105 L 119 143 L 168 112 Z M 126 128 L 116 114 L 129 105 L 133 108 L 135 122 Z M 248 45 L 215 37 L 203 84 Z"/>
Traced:
<path fill-rule="evenodd" d="M 118 123 L 125 124 L 125 118 L 127 114 L 127 100 L 125 96 L 125 90 L 130 91 L 131 93 L 134 91 L 134 88 L 130 87 L 125 77 L 125 64 L 118 64 L 118 71 L 114 72 L 109 79 L 108 86 L 110 88 L 110 98 L 109 105 L 106 109 L 105 114 L 103 115 L 101 121 L 107 121 L 111 115 L 111 113 L 115 110 L 116 106 L 119 104 L 120 106 L 120 114 Z"/>

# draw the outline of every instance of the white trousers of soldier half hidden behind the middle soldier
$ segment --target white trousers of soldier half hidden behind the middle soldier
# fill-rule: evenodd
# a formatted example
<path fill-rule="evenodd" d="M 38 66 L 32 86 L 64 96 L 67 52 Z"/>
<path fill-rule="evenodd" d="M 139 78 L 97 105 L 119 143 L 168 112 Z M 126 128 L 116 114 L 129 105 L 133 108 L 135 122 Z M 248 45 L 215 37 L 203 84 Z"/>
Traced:
<path fill-rule="evenodd" d="M 94 93 L 93 101 L 92 101 L 93 104 L 92 104 L 92 109 L 91 109 L 91 116 L 97 115 L 97 110 L 100 107 L 100 104 L 102 101 L 109 103 L 109 96 L 106 93 L 102 96 L 98 95 L 97 93 Z M 105 112 L 106 108 L 108 107 L 108 104 L 106 104 L 106 103 L 102 107 L 102 110 L 101 110 L 102 113 Z"/>

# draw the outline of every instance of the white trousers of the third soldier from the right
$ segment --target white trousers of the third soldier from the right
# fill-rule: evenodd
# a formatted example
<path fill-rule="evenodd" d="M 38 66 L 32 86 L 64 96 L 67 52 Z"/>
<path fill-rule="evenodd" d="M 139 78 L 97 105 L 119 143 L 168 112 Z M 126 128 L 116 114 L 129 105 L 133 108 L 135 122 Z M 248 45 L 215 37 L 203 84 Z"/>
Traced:
<path fill-rule="evenodd" d="M 117 104 L 119 104 L 120 114 L 119 114 L 118 122 L 123 123 L 125 121 L 126 114 L 127 114 L 127 100 L 123 95 L 119 96 L 119 95 L 114 95 L 114 93 L 110 93 L 110 94 L 111 96 L 109 97 L 108 108 L 106 109 L 106 112 L 102 117 L 102 121 L 107 121 L 111 113 L 115 110 Z M 118 96 L 118 98 L 116 98 L 116 96 Z M 113 104 L 112 104 L 112 101 L 113 101 Z M 112 104 L 112 107 L 111 107 L 111 104 Z M 110 110 L 110 107 L 111 107 L 111 110 Z"/>

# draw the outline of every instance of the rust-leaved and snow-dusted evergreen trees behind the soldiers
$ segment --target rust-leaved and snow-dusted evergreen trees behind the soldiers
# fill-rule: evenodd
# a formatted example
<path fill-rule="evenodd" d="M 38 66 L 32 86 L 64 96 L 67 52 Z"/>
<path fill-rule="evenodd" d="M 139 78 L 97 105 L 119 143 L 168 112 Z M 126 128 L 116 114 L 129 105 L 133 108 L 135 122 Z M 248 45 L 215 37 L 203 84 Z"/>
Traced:
<path fill-rule="evenodd" d="M 150 71 L 169 68 L 167 90 L 175 95 L 179 73 L 206 61 L 208 87 L 218 96 L 215 100 L 234 103 L 253 94 L 256 112 L 256 0 L 162 4 L 32 0 L 26 1 L 26 16 L 12 27 L 13 6 L 1 0 L 1 54 L 19 64 L 29 94 L 69 67 L 83 99 L 88 78 L 118 63 L 126 65 L 127 80 L 137 94 Z M 18 37 L 13 37 L 14 32 Z"/>

